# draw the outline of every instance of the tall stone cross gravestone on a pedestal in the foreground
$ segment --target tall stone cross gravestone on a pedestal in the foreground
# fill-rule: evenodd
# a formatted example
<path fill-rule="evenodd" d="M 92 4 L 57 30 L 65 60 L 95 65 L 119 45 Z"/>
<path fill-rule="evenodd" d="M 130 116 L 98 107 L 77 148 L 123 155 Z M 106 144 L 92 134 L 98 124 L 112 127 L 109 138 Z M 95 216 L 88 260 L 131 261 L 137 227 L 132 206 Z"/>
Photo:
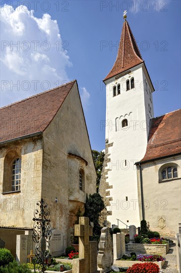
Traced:
<path fill-rule="evenodd" d="M 79 237 L 79 259 L 73 259 L 73 273 L 97 273 L 97 242 L 89 242 L 92 226 L 88 217 L 79 217 L 74 226 L 75 236 Z"/>

